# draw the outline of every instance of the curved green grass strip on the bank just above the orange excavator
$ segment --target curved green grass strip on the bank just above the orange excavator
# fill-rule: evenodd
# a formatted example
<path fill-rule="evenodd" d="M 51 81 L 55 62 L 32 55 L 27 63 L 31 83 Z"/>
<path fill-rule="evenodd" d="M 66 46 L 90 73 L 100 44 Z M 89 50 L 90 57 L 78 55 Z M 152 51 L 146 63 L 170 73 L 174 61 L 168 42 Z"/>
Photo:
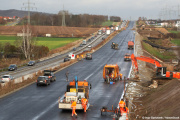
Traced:
<path fill-rule="evenodd" d="M 156 48 L 153 48 L 147 43 L 142 42 L 143 48 L 148 51 L 150 54 L 160 58 L 161 60 L 169 60 L 175 58 L 173 52 L 165 51 L 164 53 L 160 53 L 160 51 Z"/>

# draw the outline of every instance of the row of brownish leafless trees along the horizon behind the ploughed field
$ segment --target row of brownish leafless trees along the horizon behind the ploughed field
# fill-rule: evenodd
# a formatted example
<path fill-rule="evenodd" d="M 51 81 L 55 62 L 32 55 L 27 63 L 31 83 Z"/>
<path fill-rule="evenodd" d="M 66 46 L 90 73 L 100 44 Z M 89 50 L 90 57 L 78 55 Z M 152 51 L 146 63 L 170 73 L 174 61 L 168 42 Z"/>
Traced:
<path fill-rule="evenodd" d="M 69 27 L 101 27 L 103 22 L 108 21 L 106 15 L 74 15 L 68 11 L 60 11 L 58 14 L 34 13 L 31 15 L 31 25 L 61 26 L 63 14 L 65 15 L 65 24 Z M 110 16 L 110 20 L 119 22 L 121 18 Z M 27 22 L 27 18 L 24 18 L 24 22 Z"/>

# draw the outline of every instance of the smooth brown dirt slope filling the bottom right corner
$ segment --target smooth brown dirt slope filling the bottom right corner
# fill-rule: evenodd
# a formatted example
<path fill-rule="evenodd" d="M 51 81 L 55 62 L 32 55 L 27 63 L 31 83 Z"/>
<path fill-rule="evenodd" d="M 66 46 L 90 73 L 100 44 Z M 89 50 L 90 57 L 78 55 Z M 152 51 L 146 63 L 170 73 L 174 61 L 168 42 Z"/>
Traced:
<path fill-rule="evenodd" d="M 143 111 L 138 115 L 146 117 L 180 117 L 180 81 L 172 80 L 148 92 L 142 101 Z"/>

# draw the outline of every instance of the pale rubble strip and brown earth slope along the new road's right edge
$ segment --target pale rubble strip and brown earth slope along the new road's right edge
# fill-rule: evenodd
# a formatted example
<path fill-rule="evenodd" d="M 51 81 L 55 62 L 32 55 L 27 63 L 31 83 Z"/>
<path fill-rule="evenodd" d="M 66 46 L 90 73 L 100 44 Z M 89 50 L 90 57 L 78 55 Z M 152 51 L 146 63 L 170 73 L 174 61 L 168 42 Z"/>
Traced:
<path fill-rule="evenodd" d="M 136 34 L 135 56 L 150 56 L 143 50 L 142 37 Z M 153 59 L 156 59 L 153 57 Z M 147 119 L 180 119 L 180 80 L 173 79 L 160 85 L 157 89 L 149 88 L 156 68 L 149 67 L 143 61 L 138 61 L 139 80 L 134 79 L 132 70 L 128 81 L 125 98 L 129 100 L 129 120 Z"/>

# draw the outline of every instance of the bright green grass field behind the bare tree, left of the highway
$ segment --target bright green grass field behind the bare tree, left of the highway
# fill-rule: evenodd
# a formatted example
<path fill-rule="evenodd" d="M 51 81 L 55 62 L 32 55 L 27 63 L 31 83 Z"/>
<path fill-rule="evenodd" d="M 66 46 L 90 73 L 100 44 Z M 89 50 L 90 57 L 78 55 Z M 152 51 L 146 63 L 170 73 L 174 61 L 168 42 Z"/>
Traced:
<path fill-rule="evenodd" d="M 0 36 L 0 43 L 5 44 L 9 42 L 14 45 L 16 41 L 16 36 Z M 47 37 L 38 37 L 37 45 L 47 46 L 50 50 L 62 47 L 68 43 L 74 42 L 81 38 L 47 38 Z"/>

